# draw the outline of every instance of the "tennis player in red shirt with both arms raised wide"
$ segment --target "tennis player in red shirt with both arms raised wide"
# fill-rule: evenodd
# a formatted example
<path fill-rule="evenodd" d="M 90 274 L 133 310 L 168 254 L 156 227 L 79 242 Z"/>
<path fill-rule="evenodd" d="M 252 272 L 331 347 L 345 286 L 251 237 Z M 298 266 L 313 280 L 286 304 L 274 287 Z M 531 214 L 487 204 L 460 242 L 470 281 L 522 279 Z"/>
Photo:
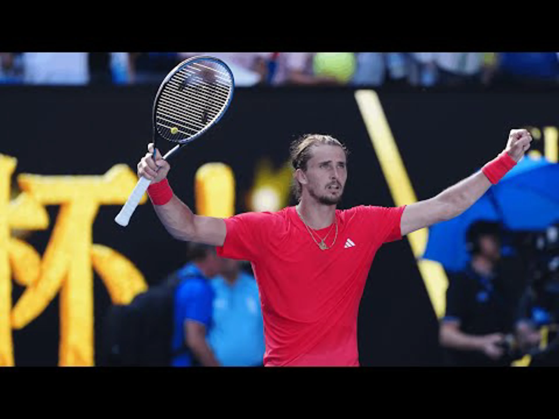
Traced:
<path fill-rule="evenodd" d="M 511 130 L 503 153 L 437 196 L 401 207 L 337 209 L 347 181 L 347 149 L 328 135 L 293 142 L 298 204 L 221 219 L 195 215 L 174 195 L 170 166 L 153 145 L 138 175 L 159 219 L 179 240 L 217 246 L 249 260 L 260 289 L 266 366 L 359 366 L 357 315 L 369 268 L 386 242 L 466 211 L 522 158 L 532 137 Z"/>

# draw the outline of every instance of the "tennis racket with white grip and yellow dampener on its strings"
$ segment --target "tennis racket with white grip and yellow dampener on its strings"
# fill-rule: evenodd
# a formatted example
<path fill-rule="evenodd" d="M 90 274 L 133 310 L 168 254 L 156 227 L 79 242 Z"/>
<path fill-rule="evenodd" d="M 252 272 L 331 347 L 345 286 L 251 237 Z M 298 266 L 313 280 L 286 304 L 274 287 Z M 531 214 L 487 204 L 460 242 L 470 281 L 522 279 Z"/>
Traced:
<path fill-rule="evenodd" d="M 165 77 L 153 103 L 153 159 L 159 140 L 178 143 L 163 159 L 214 126 L 233 99 L 233 73 L 220 59 L 196 56 L 182 61 Z M 115 217 L 125 227 L 151 181 L 141 177 Z"/>

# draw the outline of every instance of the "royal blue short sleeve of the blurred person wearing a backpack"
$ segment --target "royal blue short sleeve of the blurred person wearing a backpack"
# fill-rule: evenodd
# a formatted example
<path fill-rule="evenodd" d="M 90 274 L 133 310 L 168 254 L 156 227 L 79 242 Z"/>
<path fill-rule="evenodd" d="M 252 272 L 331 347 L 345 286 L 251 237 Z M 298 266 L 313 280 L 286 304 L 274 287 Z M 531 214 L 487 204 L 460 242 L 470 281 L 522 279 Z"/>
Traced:
<path fill-rule="evenodd" d="M 212 291 L 210 285 L 204 287 L 203 284 L 195 280 L 187 280 L 187 283 L 179 290 L 177 305 L 179 318 L 194 320 L 210 326 L 212 317 Z"/>

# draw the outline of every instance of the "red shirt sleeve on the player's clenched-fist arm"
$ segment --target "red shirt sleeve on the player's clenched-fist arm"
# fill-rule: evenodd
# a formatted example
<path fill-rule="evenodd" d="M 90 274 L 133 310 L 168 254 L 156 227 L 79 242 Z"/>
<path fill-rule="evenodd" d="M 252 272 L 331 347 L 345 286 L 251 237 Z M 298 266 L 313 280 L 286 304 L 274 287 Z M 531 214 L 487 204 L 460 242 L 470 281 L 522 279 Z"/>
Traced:
<path fill-rule="evenodd" d="M 400 222 L 404 208 L 401 207 L 377 207 L 377 206 L 361 206 L 359 210 L 362 213 L 365 225 L 376 234 L 376 239 L 380 243 L 400 240 L 402 238 Z"/>

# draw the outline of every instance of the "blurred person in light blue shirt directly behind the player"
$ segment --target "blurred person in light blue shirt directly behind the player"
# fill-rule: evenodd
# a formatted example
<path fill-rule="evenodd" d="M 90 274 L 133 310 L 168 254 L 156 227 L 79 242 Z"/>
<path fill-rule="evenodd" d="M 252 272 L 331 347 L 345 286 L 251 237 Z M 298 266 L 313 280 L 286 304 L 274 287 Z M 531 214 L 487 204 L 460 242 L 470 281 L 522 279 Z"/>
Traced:
<path fill-rule="evenodd" d="M 224 366 L 262 366 L 264 325 L 258 285 L 241 270 L 241 262 L 222 259 L 221 275 L 211 279 L 214 289 L 214 327 L 210 346 Z"/>

